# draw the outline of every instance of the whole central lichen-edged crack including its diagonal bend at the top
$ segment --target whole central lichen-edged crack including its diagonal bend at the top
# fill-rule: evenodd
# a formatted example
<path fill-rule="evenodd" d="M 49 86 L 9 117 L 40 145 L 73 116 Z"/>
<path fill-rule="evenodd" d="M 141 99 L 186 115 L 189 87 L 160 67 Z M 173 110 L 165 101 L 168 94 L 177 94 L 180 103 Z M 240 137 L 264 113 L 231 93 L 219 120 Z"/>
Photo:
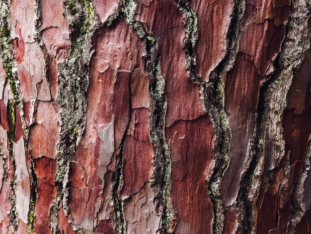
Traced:
<path fill-rule="evenodd" d="M 152 99 L 152 114 L 150 116 L 150 139 L 154 150 L 154 171 L 152 175 L 155 188 L 156 209 L 162 207 L 162 227 L 160 232 L 173 233 L 177 220 L 170 199 L 171 160 L 168 144 L 165 139 L 166 97 L 164 95 L 164 78 L 160 71 L 160 56 L 157 51 L 156 37 L 148 34 L 143 25 L 134 19 L 136 11 L 134 0 L 121 0 L 121 15 L 133 27 L 139 37 L 146 39 L 145 70 L 150 76 L 150 94 Z"/>

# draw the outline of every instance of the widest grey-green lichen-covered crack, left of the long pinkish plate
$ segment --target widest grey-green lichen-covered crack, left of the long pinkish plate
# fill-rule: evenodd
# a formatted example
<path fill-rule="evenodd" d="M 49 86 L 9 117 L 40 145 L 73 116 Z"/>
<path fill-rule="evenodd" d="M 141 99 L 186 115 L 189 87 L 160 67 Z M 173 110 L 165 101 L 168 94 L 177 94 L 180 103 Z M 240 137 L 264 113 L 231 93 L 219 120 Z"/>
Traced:
<path fill-rule="evenodd" d="M 72 50 L 68 59 L 57 65 L 59 84 L 56 101 L 61 108 L 62 131 L 60 143 L 56 149 L 57 195 L 50 209 L 52 233 L 57 232 L 58 210 L 64 199 L 69 161 L 75 155 L 85 127 L 89 51 L 91 36 L 97 23 L 95 10 L 90 0 L 64 0 L 64 5 L 66 17 L 72 28 Z M 68 209 L 66 202 L 63 206 L 64 210 Z"/>

